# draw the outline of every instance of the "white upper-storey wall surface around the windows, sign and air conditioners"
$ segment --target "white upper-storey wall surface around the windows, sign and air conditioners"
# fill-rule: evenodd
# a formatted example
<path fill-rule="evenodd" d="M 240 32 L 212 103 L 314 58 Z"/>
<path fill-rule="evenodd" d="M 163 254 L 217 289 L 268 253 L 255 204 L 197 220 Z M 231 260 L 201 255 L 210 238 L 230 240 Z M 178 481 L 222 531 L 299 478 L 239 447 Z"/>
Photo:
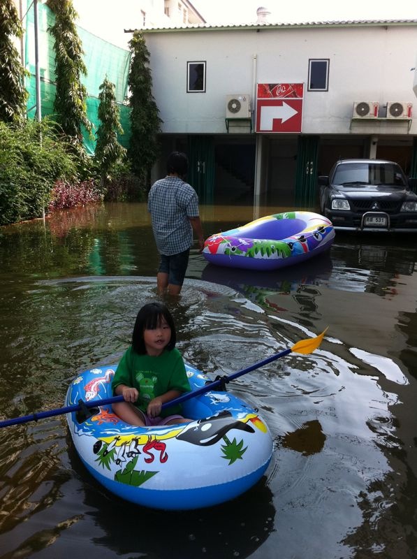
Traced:
<path fill-rule="evenodd" d="M 256 82 L 304 82 L 310 58 L 330 59 L 328 92 L 307 92 L 302 133 L 417 133 L 417 119 L 352 126 L 354 101 L 415 101 L 417 23 L 393 26 L 145 31 L 163 132 L 225 133 L 226 95 Z M 205 93 L 186 93 L 186 62 L 206 61 Z M 417 114 L 417 103 L 415 103 Z M 380 115 L 381 115 L 380 112 Z M 381 115 L 381 116 L 382 116 Z"/>

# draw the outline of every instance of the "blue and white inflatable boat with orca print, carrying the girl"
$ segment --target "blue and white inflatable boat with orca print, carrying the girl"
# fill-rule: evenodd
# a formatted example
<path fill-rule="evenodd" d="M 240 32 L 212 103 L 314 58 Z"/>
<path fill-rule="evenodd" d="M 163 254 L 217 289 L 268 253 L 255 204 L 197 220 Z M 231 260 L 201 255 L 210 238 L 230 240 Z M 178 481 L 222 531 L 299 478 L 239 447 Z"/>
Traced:
<path fill-rule="evenodd" d="M 231 500 L 262 477 L 272 437 L 255 409 L 227 391 L 208 391 L 183 403 L 191 423 L 134 427 L 99 400 L 112 396 L 114 365 L 82 372 L 68 388 L 66 405 L 98 400 L 89 414 L 67 414 L 87 470 L 120 498 L 156 509 L 198 509 Z M 186 364 L 191 389 L 210 382 Z M 86 407 L 87 410 L 87 407 Z"/>

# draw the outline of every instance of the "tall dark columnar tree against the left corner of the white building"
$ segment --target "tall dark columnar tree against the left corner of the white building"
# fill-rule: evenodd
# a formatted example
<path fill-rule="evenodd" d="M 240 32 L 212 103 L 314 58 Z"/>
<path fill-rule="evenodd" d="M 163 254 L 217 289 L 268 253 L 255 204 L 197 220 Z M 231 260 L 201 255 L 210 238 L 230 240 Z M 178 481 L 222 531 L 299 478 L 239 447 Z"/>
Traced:
<path fill-rule="evenodd" d="M 131 140 L 128 156 L 133 173 L 149 187 L 152 165 L 159 154 L 158 133 L 162 121 L 152 95 L 149 51 L 140 31 L 134 32 L 129 48 L 132 59 L 129 71 Z"/>

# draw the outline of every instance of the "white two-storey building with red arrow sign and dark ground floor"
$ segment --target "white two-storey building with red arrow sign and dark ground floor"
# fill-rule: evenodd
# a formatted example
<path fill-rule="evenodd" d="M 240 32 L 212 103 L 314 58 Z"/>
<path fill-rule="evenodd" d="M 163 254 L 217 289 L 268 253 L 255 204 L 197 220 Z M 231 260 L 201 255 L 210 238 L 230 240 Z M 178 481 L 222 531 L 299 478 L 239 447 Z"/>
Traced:
<path fill-rule="evenodd" d="M 393 159 L 417 175 L 417 20 L 143 34 L 164 156 L 189 153 L 203 199 L 307 205 L 339 157 Z"/>

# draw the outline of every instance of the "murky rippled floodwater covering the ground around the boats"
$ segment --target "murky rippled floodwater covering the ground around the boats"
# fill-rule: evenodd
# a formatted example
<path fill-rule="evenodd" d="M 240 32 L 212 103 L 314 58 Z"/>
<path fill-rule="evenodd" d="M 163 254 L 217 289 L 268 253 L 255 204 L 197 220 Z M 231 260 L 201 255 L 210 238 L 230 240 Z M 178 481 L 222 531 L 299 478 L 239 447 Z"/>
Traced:
<path fill-rule="evenodd" d="M 208 236 L 281 208 L 201 210 Z M 268 273 L 193 249 L 167 303 L 196 368 L 231 374 L 329 327 L 313 354 L 232 383 L 272 433 L 265 476 L 212 509 L 153 511 L 89 476 L 64 416 L 1 428 L 0 558 L 416 558 L 416 262 L 416 235 L 337 233 Z M 0 228 L 1 418 L 61 407 L 78 372 L 115 363 L 157 263 L 143 204 Z"/>

